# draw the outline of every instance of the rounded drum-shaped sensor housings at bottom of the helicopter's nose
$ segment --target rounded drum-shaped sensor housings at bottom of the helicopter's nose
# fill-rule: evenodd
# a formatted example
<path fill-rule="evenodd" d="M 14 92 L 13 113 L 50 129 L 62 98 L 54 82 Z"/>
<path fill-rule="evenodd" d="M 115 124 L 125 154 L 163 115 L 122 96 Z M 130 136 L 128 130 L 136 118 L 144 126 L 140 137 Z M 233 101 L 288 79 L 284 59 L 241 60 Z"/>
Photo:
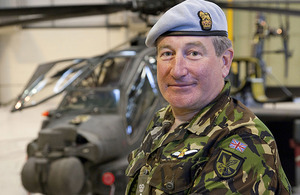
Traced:
<path fill-rule="evenodd" d="M 47 159 L 30 157 L 22 169 L 21 178 L 29 192 L 79 194 L 84 185 L 84 168 L 75 157 L 61 158 L 51 163 Z M 47 185 L 43 187 L 42 183 Z"/>

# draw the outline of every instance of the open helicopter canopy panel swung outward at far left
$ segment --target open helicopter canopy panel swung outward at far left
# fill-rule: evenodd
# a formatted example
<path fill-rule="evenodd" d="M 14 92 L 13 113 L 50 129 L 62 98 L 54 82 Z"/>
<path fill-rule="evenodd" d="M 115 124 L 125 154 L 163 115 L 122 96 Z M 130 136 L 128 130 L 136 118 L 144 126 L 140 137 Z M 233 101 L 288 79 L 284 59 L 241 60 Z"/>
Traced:
<path fill-rule="evenodd" d="M 19 97 L 15 109 L 37 105 L 64 91 L 87 67 L 84 59 L 68 59 L 41 64 Z"/>

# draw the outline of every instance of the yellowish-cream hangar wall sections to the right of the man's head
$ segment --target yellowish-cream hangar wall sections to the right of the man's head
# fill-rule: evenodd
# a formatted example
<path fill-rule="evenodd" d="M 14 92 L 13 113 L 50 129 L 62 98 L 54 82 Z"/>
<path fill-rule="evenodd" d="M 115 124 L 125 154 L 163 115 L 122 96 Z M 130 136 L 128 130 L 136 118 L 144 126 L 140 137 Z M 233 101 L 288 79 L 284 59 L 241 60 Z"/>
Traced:
<path fill-rule="evenodd" d="M 297 8 L 298 7 L 298 8 Z M 300 9 L 300 6 L 294 6 L 293 9 Z M 234 49 L 235 56 L 251 56 L 253 49 L 253 37 L 256 31 L 256 19 L 258 12 L 250 11 L 234 11 Z M 278 29 L 282 25 L 285 27 L 286 15 L 284 14 L 271 14 L 264 13 L 268 27 L 271 29 Z M 289 16 L 289 30 L 288 30 L 288 48 L 291 52 L 291 57 L 288 60 L 288 74 L 285 75 L 285 62 L 283 53 L 269 53 L 264 54 L 268 70 L 270 71 L 267 76 L 266 84 L 269 87 L 276 87 L 279 84 L 286 85 L 287 87 L 300 86 L 300 28 L 299 16 Z M 283 49 L 282 36 L 269 36 L 264 41 L 265 51 L 275 51 Z"/>

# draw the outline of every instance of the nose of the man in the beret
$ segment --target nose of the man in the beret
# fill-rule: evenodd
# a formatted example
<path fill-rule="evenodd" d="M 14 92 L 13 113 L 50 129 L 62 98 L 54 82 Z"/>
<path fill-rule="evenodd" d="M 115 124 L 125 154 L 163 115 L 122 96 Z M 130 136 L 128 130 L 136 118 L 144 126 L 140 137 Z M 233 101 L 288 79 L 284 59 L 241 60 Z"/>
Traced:
<path fill-rule="evenodd" d="M 176 54 L 171 63 L 170 74 L 174 79 L 180 79 L 187 75 L 186 60 L 183 55 Z"/>

